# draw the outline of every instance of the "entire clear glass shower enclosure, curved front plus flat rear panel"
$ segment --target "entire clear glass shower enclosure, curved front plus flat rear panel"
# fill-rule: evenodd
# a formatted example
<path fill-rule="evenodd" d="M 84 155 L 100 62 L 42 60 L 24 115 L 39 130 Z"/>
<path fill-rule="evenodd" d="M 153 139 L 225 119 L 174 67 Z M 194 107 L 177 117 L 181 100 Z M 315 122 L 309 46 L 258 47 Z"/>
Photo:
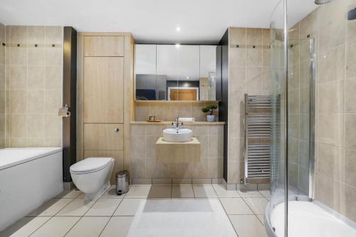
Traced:
<path fill-rule="evenodd" d="M 288 236 L 291 201 L 313 199 L 315 41 L 287 25 L 286 0 L 271 16 L 272 107 L 269 236 Z"/>

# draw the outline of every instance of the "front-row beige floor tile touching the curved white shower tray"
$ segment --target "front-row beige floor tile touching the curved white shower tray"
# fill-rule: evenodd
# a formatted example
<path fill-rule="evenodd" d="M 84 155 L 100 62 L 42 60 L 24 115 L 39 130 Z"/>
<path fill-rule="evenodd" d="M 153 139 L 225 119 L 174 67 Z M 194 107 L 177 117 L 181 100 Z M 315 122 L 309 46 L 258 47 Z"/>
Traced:
<path fill-rule="evenodd" d="M 239 237 L 267 237 L 265 228 L 255 215 L 230 215 Z"/>

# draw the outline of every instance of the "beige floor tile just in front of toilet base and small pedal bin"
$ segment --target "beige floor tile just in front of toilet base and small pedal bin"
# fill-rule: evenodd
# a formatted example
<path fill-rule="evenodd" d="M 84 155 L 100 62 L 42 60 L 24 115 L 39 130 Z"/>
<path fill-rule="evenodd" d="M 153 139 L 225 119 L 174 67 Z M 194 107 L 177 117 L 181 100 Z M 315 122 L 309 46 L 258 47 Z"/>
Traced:
<path fill-rule="evenodd" d="M 122 199 L 98 199 L 85 216 L 112 216 Z"/>

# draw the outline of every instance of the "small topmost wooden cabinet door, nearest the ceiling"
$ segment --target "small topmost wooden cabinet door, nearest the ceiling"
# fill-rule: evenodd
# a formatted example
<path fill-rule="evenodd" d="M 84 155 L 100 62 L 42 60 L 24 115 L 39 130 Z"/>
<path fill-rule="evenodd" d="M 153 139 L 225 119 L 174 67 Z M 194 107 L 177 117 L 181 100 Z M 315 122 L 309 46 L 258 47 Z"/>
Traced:
<path fill-rule="evenodd" d="M 84 56 L 118 57 L 124 56 L 123 36 L 85 36 Z"/>

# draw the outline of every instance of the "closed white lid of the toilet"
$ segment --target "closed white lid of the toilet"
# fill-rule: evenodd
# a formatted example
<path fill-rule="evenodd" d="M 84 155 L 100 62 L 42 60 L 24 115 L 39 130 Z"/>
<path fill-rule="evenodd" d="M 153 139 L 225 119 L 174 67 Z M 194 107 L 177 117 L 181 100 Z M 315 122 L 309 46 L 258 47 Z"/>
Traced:
<path fill-rule="evenodd" d="M 83 159 L 70 166 L 70 172 L 90 172 L 106 167 L 112 158 L 110 157 L 90 157 Z"/>

